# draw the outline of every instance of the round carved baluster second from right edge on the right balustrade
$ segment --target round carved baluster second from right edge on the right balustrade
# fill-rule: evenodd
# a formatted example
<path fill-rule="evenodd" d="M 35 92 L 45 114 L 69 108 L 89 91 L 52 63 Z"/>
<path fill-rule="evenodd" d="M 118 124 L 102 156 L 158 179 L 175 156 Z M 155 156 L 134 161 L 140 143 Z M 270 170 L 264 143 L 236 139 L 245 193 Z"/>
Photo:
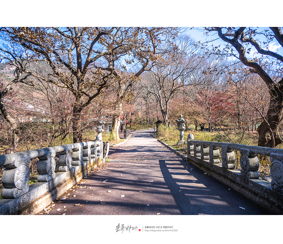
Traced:
<path fill-rule="evenodd" d="M 241 175 L 249 179 L 259 178 L 258 168 L 258 154 L 253 154 L 248 149 L 240 149 L 241 158 Z"/>

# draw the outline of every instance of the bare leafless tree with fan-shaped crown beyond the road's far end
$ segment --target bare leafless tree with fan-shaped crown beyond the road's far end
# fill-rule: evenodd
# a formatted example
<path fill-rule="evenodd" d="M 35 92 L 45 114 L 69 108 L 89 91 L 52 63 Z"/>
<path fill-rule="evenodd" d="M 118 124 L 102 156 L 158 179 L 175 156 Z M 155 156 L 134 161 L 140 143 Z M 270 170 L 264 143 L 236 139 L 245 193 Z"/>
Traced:
<path fill-rule="evenodd" d="M 197 47 L 190 37 L 184 37 L 177 45 L 180 49 L 171 53 L 166 63 L 159 63 L 152 68 L 140 83 L 155 97 L 163 124 L 167 127 L 170 126 L 168 116 L 171 99 L 182 87 L 190 85 L 190 73 L 200 68 L 200 63 L 204 60 L 204 57 L 197 53 Z"/>

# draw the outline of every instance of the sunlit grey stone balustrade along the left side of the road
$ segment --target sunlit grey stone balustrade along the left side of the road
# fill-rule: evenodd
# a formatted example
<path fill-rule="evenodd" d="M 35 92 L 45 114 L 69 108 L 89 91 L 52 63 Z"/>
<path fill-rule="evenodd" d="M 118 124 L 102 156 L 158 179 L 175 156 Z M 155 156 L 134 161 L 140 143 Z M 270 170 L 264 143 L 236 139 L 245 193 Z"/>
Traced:
<path fill-rule="evenodd" d="M 58 197 L 60 193 L 63 194 L 65 190 L 68 190 L 94 166 L 104 160 L 103 145 L 105 144 L 102 140 L 96 140 L 0 155 L 0 166 L 5 167 L 2 174 L 4 189 L 1 193 L 2 199 L 0 199 L 0 214 L 35 214 L 35 211 L 22 211 L 21 209 L 27 208 L 31 202 L 35 204 L 35 200 L 42 198 L 42 195 L 51 193 L 52 196 L 48 197 L 49 204 L 54 200 L 54 197 Z M 55 156 L 58 157 L 57 173 L 55 173 Z M 30 160 L 35 158 L 38 158 L 38 182 L 31 185 L 34 190 L 34 193 L 31 193 L 28 185 L 29 164 Z M 44 183 L 46 184 L 44 185 Z M 38 188 L 35 189 L 36 187 Z M 38 190 L 40 187 L 42 189 Z M 47 190 L 43 190 L 45 188 Z M 56 194 L 54 195 L 52 191 Z M 38 192 L 41 193 L 38 194 Z M 13 201 L 9 209 L 7 206 L 11 199 L 18 200 Z M 42 206 L 46 207 L 48 204 L 45 203 L 45 206 Z"/>

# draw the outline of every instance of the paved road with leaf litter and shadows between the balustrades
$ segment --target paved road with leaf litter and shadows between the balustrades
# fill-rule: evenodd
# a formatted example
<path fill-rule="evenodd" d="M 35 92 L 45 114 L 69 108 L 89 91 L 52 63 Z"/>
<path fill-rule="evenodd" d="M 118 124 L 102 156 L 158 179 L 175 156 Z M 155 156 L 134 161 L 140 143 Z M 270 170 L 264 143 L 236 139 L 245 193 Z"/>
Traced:
<path fill-rule="evenodd" d="M 54 202 L 41 214 L 270 214 L 178 157 L 152 138 L 151 132 L 133 131 L 123 145 L 110 148 L 111 161 L 92 171 L 62 195 L 66 199 Z"/>

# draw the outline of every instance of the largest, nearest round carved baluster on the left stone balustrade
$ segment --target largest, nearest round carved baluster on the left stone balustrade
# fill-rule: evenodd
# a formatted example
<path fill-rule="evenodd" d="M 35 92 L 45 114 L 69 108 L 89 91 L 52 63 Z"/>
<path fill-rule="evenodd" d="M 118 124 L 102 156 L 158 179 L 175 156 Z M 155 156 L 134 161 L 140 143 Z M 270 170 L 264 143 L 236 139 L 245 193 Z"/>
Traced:
<path fill-rule="evenodd" d="M 16 198 L 28 192 L 28 180 L 30 177 L 30 158 L 21 157 L 6 165 L 2 173 L 3 198 Z"/>

